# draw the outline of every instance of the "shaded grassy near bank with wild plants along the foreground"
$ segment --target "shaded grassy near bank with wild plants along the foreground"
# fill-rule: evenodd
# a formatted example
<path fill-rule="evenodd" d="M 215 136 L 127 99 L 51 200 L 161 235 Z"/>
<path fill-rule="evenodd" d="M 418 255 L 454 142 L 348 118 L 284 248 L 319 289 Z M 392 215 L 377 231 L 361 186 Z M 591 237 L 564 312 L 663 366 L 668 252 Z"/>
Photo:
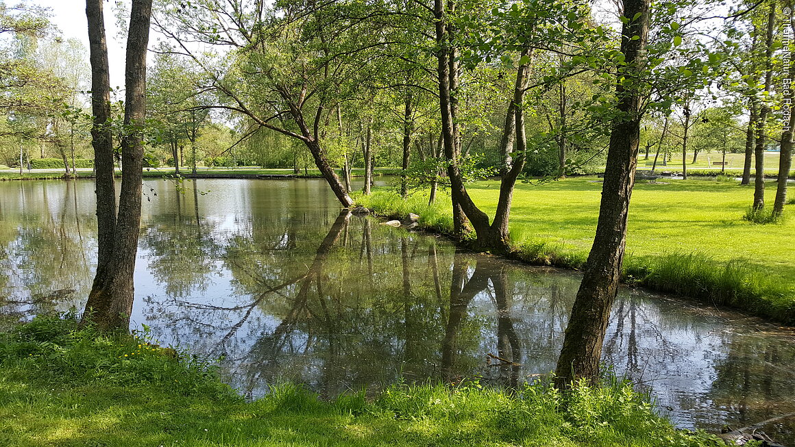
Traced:
<path fill-rule="evenodd" d="M 395 385 L 323 401 L 285 384 L 246 402 L 211 365 L 37 318 L 0 334 L 0 445 L 719 445 L 675 430 L 627 383 L 514 395 Z"/>

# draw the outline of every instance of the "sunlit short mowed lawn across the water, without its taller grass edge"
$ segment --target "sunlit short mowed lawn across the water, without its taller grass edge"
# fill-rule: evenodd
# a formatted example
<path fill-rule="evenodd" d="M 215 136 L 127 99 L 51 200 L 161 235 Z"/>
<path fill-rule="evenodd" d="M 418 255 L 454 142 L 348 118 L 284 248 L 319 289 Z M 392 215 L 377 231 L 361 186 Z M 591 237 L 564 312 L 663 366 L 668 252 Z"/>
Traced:
<path fill-rule="evenodd" d="M 665 180 L 661 180 L 665 181 Z M 766 184 L 773 206 L 776 183 Z M 560 249 L 588 252 L 599 216 L 602 183 L 595 177 L 541 185 L 519 183 L 510 217 L 512 237 L 552 242 Z M 790 188 L 795 194 L 795 185 Z M 493 215 L 498 181 L 467 185 L 471 197 Z M 795 216 L 781 224 L 743 220 L 753 184 L 704 179 L 638 183 L 630 203 L 627 253 L 630 256 L 701 252 L 715 260 L 748 260 L 795 283 Z M 787 205 L 785 214 L 795 214 Z"/>

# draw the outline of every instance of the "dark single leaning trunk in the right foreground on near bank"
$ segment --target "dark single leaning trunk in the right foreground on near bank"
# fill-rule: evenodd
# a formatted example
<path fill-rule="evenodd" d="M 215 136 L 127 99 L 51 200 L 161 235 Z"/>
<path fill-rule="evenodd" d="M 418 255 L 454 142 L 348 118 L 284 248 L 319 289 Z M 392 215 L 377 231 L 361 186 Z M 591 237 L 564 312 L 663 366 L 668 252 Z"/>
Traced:
<path fill-rule="evenodd" d="M 626 66 L 618 71 L 622 77 L 640 83 L 643 48 L 649 34 L 649 0 L 623 0 L 623 11 L 630 21 L 622 27 L 621 52 Z M 636 20 L 631 20 L 636 16 Z M 604 333 L 621 276 L 626 218 L 638 164 L 642 92 L 638 86 L 627 90 L 624 83 L 617 83 L 615 92 L 621 113 L 611 131 L 594 244 L 557 362 L 555 383 L 560 388 L 580 378 L 598 379 Z"/>

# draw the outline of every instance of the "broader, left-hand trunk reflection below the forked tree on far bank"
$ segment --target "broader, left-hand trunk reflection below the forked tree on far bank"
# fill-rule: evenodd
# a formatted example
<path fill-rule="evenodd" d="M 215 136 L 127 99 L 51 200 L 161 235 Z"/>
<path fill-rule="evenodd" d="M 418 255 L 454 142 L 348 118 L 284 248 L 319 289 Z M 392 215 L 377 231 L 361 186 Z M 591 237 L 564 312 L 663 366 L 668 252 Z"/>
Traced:
<path fill-rule="evenodd" d="M 447 326 L 444 328 L 442 341 L 442 374 L 444 380 L 456 380 L 455 357 L 458 351 L 458 333 L 461 324 L 467 316 L 469 303 L 479 292 L 488 286 L 489 276 L 486 262 L 479 260 L 472 277 L 464 281 L 467 276 L 467 264 L 461 262 L 461 255 L 456 254 L 452 267 L 452 283 L 450 287 L 450 310 Z"/>

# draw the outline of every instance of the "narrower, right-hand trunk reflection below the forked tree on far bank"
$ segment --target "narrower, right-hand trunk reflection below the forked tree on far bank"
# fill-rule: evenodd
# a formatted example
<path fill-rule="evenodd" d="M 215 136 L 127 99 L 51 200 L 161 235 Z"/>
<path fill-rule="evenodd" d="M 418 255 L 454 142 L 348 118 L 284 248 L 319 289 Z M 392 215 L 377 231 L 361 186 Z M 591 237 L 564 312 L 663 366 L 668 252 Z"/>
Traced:
<path fill-rule="evenodd" d="M 510 316 L 510 296 L 508 295 L 508 269 L 505 265 L 499 268 L 496 275 L 491 276 L 494 285 L 494 299 L 497 302 L 497 350 L 500 358 L 514 364 L 504 364 L 498 368 L 510 371 L 506 377 L 506 385 L 518 387 L 519 368 L 522 360 L 522 345 L 514 328 L 514 320 Z"/>

